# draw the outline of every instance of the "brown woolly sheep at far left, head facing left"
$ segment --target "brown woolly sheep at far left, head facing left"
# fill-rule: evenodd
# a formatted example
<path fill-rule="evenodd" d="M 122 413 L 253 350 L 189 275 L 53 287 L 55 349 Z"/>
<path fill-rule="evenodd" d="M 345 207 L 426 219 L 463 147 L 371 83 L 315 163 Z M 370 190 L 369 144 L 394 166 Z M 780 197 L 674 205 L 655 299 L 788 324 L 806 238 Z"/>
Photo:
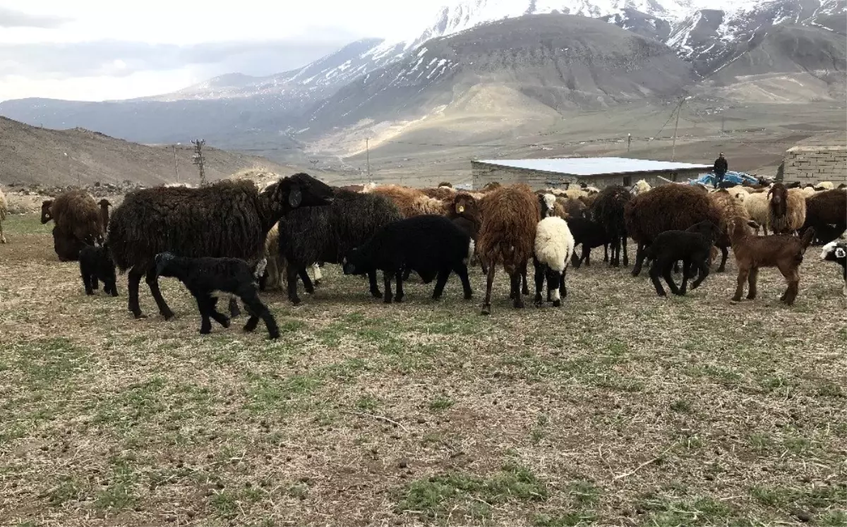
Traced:
<path fill-rule="evenodd" d="M 42 203 L 42 224 L 53 219 L 58 229 L 88 245 L 103 240 L 100 208 L 86 191 L 67 191 Z"/>

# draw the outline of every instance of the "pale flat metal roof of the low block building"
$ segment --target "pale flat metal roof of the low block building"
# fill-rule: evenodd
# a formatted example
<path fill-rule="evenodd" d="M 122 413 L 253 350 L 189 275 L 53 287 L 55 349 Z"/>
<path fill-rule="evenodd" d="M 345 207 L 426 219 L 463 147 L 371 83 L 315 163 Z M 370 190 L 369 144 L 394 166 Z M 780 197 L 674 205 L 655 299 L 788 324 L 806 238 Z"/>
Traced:
<path fill-rule="evenodd" d="M 480 159 L 478 163 L 568 175 L 633 174 L 660 170 L 711 170 L 709 164 L 630 158 Z"/>

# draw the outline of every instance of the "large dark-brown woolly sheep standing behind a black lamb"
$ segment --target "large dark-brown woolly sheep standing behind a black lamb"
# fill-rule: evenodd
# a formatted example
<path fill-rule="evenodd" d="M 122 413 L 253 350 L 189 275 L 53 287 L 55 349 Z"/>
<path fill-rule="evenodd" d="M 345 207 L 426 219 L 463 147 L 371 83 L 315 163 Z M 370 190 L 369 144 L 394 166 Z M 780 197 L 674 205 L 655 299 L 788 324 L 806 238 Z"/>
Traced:
<path fill-rule="evenodd" d="M 721 223 L 721 213 L 709 197 L 689 185 L 662 185 L 627 202 L 623 217 L 627 234 L 638 244 L 633 276 L 644 266 L 645 249 L 665 230 L 686 230 L 708 219 Z"/>

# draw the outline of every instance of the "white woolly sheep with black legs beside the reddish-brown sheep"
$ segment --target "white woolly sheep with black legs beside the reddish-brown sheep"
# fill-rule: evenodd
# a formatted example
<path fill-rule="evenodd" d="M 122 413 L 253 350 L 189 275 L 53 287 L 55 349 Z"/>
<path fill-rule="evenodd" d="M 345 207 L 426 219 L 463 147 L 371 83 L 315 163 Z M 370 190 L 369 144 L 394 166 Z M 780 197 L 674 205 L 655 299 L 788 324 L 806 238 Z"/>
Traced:
<path fill-rule="evenodd" d="M 542 219 L 535 229 L 533 263 L 535 266 L 535 305 L 541 306 L 541 286 L 547 279 L 547 295 L 553 307 L 562 305 L 567 297 L 565 275 L 573 255 L 573 235 L 567 222 L 557 216 Z"/>

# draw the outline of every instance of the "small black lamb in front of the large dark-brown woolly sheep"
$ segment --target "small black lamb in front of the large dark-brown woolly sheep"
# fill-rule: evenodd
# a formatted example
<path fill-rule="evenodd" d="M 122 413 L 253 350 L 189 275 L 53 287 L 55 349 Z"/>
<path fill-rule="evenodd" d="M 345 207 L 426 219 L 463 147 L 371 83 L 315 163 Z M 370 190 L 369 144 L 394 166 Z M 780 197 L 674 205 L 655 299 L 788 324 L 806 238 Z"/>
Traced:
<path fill-rule="evenodd" d="M 666 296 L 662 283 L 659 281 L 661 275 L 674 295 L 683 296 L 689 278 L 694 275 L 695 267 L 699 269 L 700 276 L 692 282 L 691 289 L 697 289 L 709 275 L 711 247 L 714 246 L 719 234 L 717 225 L 706 219 L 690 226 L 687 230 L 665 230 L 656 236 L 650 247 L 646 249 L 647 258 L 653 260 L 653 265 L 650 267 L 650 280 L 653 286 L 656 286 L 656 294 L 660 297 Z M 673 264 L 679 260 L 683 261 L 682 288 L 677 288 L 671 276 Z"/>

